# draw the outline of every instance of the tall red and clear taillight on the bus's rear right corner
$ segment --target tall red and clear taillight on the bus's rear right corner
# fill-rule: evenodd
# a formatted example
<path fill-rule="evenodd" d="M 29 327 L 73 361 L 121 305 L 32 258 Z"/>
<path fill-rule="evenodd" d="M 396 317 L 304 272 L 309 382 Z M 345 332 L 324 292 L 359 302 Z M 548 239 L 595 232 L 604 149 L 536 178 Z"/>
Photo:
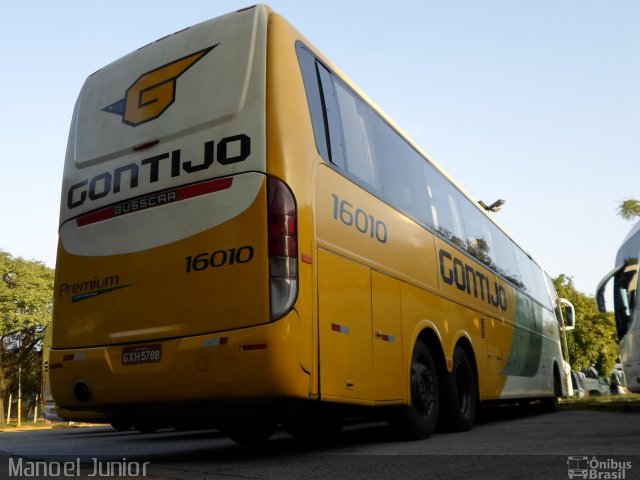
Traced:
<path fill-rule="evenodd" d="M 274 177 L 267 180 L 267 215 L 271 320 L 277 320 L 298 295 L 298 228 L 293 193 Z"/>

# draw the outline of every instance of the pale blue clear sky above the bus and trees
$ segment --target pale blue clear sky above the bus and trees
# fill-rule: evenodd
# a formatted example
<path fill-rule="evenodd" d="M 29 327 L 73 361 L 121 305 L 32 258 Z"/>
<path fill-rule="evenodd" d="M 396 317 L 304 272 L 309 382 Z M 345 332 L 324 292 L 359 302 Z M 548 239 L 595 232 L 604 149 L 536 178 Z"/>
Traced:
<path fill-rule="evenodd" d="M 0 18 L 0 250 L 55 266 L 88 75 L 242 0 L 10 2 Z M 640 199 L 637 0 L 272 0 L 552 275 L 593 294 Z"/>

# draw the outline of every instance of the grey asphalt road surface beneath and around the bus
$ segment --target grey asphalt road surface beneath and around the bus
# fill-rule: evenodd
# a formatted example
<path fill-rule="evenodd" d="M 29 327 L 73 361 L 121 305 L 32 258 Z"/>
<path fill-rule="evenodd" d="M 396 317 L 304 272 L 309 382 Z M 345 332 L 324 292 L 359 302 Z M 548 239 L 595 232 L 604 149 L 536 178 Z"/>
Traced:
<path fill-rule="evenodd" d="M 326 442 L 278 432 L 254 446 L 215 430 L 83 427 L 0 433 L 0 454 L 2 479 L 65 478 L 66 467 L 73 478 L 631 480 L 640 479 L 640 414 L 494 409 L 469 432 L 424 441 L 397 441 L 373 423 Z"/>

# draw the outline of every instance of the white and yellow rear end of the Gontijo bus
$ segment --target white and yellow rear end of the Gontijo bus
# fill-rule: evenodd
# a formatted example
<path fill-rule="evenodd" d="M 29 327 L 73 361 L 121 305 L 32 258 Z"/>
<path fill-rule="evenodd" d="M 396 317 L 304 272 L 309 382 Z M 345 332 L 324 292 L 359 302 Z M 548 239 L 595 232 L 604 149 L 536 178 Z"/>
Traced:
<path fill-rule="evenodd" d="M 212 401 L 308 394 L 286 361 L 296 204 L 266 174 L 268 15 L 177 32 L 83 86 L 60 211 L 60 407 L 149 424 Z"/>

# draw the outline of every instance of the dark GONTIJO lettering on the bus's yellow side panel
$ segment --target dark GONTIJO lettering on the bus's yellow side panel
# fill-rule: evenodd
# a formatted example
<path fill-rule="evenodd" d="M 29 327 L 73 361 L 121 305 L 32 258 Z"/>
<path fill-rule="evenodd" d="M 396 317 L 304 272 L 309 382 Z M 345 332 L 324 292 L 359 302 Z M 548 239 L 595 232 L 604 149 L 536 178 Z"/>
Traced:
<path fill-rule="evenodd" d="M 447 285 L 472 295 L 493 307 L 507 311 L 507 292 L 498 282 L 491 283 L 489 278 L 476 270 L 472 265 L 464 263 L 446 250 L 440 249 L 440 278 Z"/>

